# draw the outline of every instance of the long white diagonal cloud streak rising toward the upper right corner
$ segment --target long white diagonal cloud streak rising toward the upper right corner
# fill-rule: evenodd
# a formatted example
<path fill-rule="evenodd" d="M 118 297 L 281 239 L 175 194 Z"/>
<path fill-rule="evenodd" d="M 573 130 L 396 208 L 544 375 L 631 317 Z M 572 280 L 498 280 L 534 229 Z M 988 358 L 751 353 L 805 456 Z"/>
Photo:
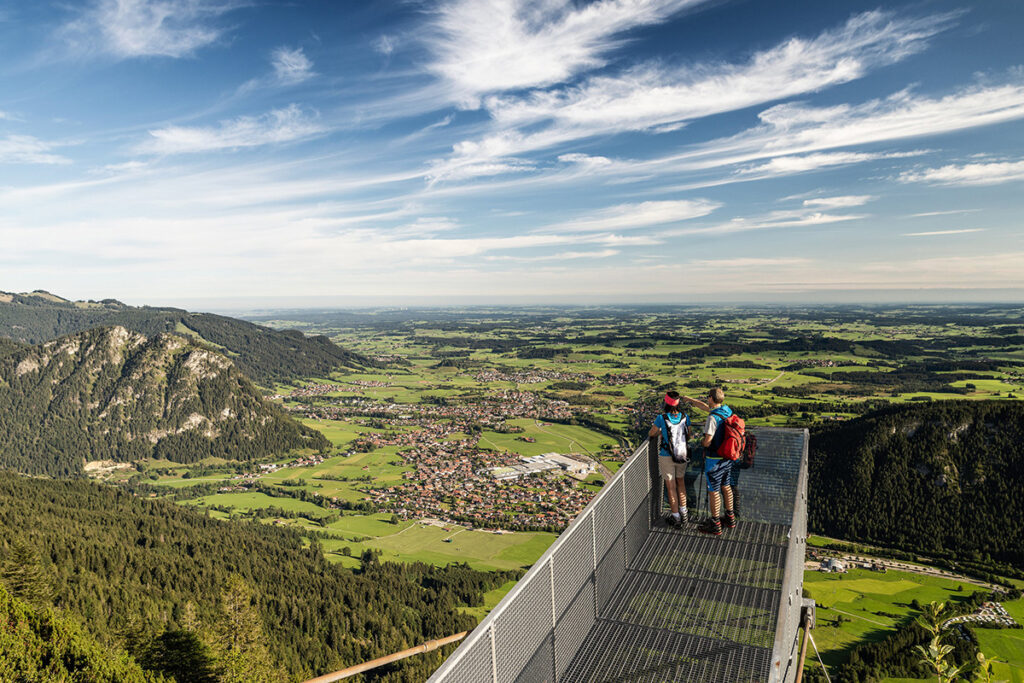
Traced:
<path fill-rule="evenodd" d="M 894 19 L 884 12 L 865 12 L 837 31 L 810 40 L 793 38 L 745 63 L 644 65 L 563 90 L 490 97 L 486 105 L 505 125 L 554 119 L 597 131 L 673 126 L 861 78 L 873 67 L 923 49 L 947 23 L 947 16 Z"/>

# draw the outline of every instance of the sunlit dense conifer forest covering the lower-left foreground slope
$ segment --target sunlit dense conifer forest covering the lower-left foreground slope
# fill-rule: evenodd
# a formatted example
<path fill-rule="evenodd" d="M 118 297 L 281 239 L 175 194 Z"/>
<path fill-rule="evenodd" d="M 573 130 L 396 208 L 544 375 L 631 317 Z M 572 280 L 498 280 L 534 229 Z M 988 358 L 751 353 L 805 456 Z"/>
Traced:
<path fill-rule="evenodd" d="M 219 521 L 84 480 L 0 473 L 3 583 L 179 683 L 296 680 L 458 633 L 475 624 L 459 605 L 480 604 L 483 592 L 514 578 L 382 563 L 370 553 L 362 560 L 360 570 L 344 569 L 291 529 Z M 0 594 L 4 608 L 16 609 Z M 41 666 L 45 647 L 26 648 L 30 665 Z M 421 655 L 368 680 L 423 681 L 441 657 Z M 262 664 L 239 674 L 254 661 Z"/>

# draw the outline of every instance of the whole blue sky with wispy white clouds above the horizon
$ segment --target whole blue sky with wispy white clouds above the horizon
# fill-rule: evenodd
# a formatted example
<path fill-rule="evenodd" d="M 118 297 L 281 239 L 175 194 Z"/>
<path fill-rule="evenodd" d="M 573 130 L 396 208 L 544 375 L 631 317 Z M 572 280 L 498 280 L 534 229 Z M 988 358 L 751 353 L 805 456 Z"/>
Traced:
<path fill-rule="evenodd" d="M 0 5 L 0 290 L 1020 300 L 1024 3 Z"/>

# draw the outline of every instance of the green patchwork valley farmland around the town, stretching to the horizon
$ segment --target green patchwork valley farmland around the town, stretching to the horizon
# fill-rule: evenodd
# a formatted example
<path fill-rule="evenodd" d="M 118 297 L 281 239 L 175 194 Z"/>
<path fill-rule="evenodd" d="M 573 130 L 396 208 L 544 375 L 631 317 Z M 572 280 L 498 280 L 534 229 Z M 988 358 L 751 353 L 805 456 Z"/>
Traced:
<path fill-rule="evenodd" d="M 500 525 L 500 514 L 453 518 L 481 501 L 515 498 L 515 486 L 480 473 L 551 452 L 615 471 L 670 388 L 700 396 L 722 386 L 752 426 L 847 420 L 891 402 L 1024 396 L 1024 308 L 1013 306 L 380 309 L 251 319 L 325 334 L 379 361 L 268 387 L 330 446 L 258 464 L 152 462 L 111 478 L 155 484 L 183 505 L 216 506 L 217 517 L 258 516 L 310 540 L 325 532 L 316 542 L 329 558 L 350 566 L 367 550 L 386 560 L 528 566 L 555 538 L 548 529 L 582 509 L 604 471 L 579 483 L 554 474 L 523 482 L 523 496 L 557 492 L 561 516 L 520 501 L 498 512 L 538 521 L 524 516 L 510 528 L 528 530 L 504 535 L 460 530 Z M 702 422 L 700 411 L 690 414 Z M 271 463 L 273 471 L 257 469 Z M 257 490 L 263 486 L 282 496 Z M 389 488 L 395 493 L 381 493 Z M 267 518 L 260 510 L 269 507 L 287 514 Z M 834 586 L 840 580 L 809 574 L 825 605 L 818 639 L 831 653 L 826 661 L 892 629 L 909 613 L 904 603 L 973 590 L 894 575 L 851 573 Z"/>

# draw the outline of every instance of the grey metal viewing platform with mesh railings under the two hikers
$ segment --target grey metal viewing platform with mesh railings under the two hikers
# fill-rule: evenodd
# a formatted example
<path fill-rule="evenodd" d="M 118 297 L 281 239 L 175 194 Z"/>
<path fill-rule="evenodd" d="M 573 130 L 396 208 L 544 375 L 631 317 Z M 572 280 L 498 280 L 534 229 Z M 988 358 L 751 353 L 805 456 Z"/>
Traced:
<path fill-rule="evenodd" d="M 431 683 L 784 683 L 797 675 L 807 537 L 806 429 L 762 428 L 721 537 L 663 521 L 644 443 Z M 707 516 L 700 458 L 690 519 Z"/>

